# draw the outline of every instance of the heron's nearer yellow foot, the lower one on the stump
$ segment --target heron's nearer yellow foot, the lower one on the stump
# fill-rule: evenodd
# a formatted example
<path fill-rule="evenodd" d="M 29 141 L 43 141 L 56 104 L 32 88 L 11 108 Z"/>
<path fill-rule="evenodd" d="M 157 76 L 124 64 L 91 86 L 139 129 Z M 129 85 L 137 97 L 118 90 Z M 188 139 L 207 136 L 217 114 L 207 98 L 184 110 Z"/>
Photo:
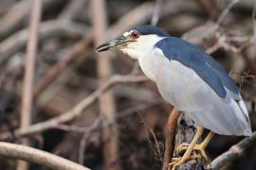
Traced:
<path fill-rule="evenodd" d="M 187 156 L 187 157 L 183 156 L 183 157 L 179 157 L 179 158 L 173 158 L 172 162 L 168 164 L 168 170 L 175 170 L 176 167 L 178 167 L 182 163 L 184 163 L 186 161 L 190 161 L 190 160 L 197 160 L 197 159 L 202 159 L 201 155 L 193 154 L 193 155 Z"/>

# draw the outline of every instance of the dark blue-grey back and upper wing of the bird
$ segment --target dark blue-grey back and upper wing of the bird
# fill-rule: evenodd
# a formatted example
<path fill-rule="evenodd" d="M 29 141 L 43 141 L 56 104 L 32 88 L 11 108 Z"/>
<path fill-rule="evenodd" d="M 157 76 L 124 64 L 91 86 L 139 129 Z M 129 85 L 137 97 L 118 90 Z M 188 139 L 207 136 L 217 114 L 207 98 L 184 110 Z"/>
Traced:
<path fill-rule="evenodd" d="M 223 67 L 197 46 L 181 39 L 170 37 L 157 42 L 155 47 L 160 48 L 166 58 L 177 60 L 191 68 L 221 98 L 226 97 L 228 90 L 228 93 L 234 99 L 241 99 L 236 85 Z"/>

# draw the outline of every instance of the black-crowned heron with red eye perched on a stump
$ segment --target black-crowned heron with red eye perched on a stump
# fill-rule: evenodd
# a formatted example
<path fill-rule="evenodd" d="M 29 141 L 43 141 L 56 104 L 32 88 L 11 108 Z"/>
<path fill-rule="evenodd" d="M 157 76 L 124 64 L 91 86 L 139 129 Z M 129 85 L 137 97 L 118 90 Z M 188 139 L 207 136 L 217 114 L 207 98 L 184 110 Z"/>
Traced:
<path fill-rule="evenodd" d="M 137 59 L 161 96 L 197 125 L 191 144 L 177 146 L 177 152 L 186 151 L 170 162 L 172 169 L 193 159 L 194 150 L 208 160 L 205 148 L 215 133 L 252 134 L 247 107 L 235 83 L 216 60 L 195 44 L 170 36 L 157 26 L 143 25 L 96 48 L 97 52 L 107 50 L 120 50 Z M 210 133 L 197 144 L 204 128 L 210 129 Z"/>

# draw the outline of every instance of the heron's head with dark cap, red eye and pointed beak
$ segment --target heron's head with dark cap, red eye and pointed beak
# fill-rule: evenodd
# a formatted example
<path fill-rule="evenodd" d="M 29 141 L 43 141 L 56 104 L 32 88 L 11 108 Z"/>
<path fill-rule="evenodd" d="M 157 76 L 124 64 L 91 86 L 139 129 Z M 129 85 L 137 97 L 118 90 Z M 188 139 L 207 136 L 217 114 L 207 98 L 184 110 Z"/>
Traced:
<path fill-rule="evenodd" d="M 117 39 L 97 47 L 97 51 L 118 49 L 133 59 L 150 52 L 156 42 L 168 37 L 168 33 L 156 26 L 135 26 L 124 32 Z"/>

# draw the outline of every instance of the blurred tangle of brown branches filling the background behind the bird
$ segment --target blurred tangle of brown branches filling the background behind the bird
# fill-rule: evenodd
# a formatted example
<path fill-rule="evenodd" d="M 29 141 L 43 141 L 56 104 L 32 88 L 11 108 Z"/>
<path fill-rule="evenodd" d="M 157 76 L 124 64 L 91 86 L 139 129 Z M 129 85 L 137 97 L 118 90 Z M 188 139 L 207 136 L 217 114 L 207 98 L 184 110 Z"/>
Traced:
<path fill-rule="evenodd" d="M 239 87 L 255 130 L 253 0 L 40 2 L 36 6 L 31 0 L 0 0 L 1 141 L 27 144 L 94 170 L 161 169 L 172 106 L 142 76 L 135 60 L 119 52 L 95 52 L 101 42 L 142 24 L 196 43 L 218 60 Z M 37 32 L 38 41 L 33 42 Z M 35 54 L 34 61 L 29 54 Z M 120 82 L 114 75 L 122 75 Z M 115 84 L 110 91 L 99 91 L 109 83 Z M 89 104 L 78 109 L 81 101 Z M 71 117 L 54 119 L 52 126 L 40 124 L 68 113 Z M 32 132 L 16 130 L 31 129 L 29 124 L 41 127 Z M 207 149 L 210 159 L 242 139 L 216 135 Z M 225 169 L 254 170 L 255 158 L 252 146 Z M 46 168 L 0 158 L 0 169 Z"/>

